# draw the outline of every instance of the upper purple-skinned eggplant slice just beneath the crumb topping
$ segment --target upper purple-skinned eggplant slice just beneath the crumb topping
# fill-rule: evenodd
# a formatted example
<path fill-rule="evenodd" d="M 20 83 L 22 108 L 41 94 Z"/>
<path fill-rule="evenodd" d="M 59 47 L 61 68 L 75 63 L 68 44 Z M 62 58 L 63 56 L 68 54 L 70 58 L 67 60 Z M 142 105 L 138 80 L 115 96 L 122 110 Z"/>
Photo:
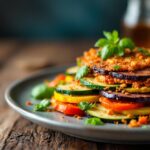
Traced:
<path fill-rule="evenodd" d="M 131 80 L 131 81 L 145 81 L 150 78 L 150 68 L 146 68 L 143 70 L 138 70 L 134 72 L 117 72 L 117 71 L 108 71 L 104 68 L 100 68 L 97 66 L 93 66 L 93 72 L 101 75 L 110 75 L 114 78 L 122 79 L 122 80 Z"/>

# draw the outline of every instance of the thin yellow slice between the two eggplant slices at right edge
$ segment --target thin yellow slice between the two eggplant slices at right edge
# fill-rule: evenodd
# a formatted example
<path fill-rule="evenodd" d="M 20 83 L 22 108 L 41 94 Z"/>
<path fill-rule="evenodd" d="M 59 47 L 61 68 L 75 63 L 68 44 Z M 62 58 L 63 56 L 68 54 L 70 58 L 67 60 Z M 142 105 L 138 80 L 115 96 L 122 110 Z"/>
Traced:
<path fill-rule="evenodd" d="M 150 87 L 125 88 L 124 90 L 129 93 L 150 93 Z"/>

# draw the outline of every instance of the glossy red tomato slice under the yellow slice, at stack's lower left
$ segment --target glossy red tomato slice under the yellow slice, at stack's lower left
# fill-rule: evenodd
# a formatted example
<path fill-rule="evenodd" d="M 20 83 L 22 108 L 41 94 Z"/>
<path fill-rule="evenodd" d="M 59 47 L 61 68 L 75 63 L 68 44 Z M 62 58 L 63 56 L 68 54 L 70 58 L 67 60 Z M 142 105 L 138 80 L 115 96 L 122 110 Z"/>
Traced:
<path fill-rule="evenodd" d="M 77 105 L 70 104 L 70 103 L 61 103 L 54 101 L 52 102 L 52 105 L 56 111 L 62 112 L 65 115 L 78 115 L 78 116 L 84 116 L 85 113 L 82 111 Z"/>

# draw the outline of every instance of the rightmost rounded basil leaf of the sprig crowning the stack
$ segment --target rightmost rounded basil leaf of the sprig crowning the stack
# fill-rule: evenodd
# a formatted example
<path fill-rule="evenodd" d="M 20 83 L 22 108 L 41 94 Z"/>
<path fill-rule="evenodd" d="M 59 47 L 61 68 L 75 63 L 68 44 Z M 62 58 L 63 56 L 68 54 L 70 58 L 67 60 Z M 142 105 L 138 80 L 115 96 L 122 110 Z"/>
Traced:
<path fill-rule="evenodd" d="M 135 47 L 135 44 L 130 38 L 123 38 L 120 40 L 119 46 L 122 48 L 129 48 L 130 50 L 132 50 Z"/>

